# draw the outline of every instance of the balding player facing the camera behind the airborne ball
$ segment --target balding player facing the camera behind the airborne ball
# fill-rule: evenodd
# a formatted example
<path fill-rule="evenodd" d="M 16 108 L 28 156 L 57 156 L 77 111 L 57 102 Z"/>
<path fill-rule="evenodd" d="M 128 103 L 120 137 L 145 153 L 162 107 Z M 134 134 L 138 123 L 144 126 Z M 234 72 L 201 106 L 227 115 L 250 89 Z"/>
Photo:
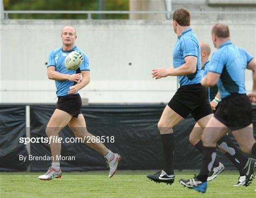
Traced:
<path fill-rule="evenodd" d="M 92 143 L 90 141 L 89 143 L 87 141 L 93 135 L 86 129 L 86 123 L 81 112 L 82 101 L 78 90 L 89 84 L 90 68 L 87 55 L 74 45 L 76 38 L 75 28 L 73 26 L 65 26 L 61 33 L 62 47 L 51 51 L 49 55 L 47 75 L 49 79 L 55 80 L 58 102 L 55 112 L 47 124 L 46 134 L 48 137 L 58 137 L 61 129 L 68 125 L 76 137 L 82 139 L 85 137 L 84 143 L 107 159 L 110 167 L 109 177 L 112 177 L 117 171 L 121 156 L 111 152 L 101 142 Z M 65 68 L 64 60 L 70 52 L 75 50 L 82 52 L 84 60 L 77 71 L 68 70 Z M 81 74 L 79 74 L 80 72 Z M 38 177 L 40 180 L 60 178 L 62 175 L 60 162 L 57 159 L 57 156 L 61 153 L 61 143 L 51 142 L 50 149 L 53 162 L 48 171 Z"/>

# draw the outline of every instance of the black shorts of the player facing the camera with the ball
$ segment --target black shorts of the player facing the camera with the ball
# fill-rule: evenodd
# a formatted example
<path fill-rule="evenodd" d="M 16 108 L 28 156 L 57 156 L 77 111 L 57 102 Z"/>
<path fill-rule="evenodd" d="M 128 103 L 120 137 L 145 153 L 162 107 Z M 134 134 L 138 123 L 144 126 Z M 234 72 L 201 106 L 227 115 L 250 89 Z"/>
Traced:
<path fill-rule="evenodd" d="M 82 100 L 79 94 L 58 97 L 57 109 L 78 117 L 81 112 Z"/>

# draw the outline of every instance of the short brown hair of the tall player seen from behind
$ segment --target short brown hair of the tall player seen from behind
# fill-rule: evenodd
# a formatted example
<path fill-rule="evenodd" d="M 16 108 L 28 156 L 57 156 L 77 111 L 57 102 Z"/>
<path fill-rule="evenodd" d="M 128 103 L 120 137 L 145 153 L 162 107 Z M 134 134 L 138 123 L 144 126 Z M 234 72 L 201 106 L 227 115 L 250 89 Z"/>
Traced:
<path fill-rule="evenodd" d="M 188 9 L 180 8 L 174 11 L 173 20 L 180 26 L 190 26 L 190 12 Z"/>

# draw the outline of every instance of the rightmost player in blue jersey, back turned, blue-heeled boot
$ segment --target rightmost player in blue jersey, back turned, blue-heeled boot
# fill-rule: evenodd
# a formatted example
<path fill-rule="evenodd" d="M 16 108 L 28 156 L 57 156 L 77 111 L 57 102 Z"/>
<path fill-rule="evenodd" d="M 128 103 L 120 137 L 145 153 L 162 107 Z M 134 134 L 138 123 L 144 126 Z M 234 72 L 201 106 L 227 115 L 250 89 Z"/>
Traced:
<path fill-rule="evenodd" d="M 221 104 L 210 119 L 202 134 L 203 161 L 198 176 L 180 182 L 187 188 L 204 193 L 207 176 L 216 157 L 216 143 L 229 129 L 232 130 L 244 153 L 256 155 L 256 140 L 253 136 L 251 102 L 256 99 L 256 59 L 244 49 L 230 41 L 229 27 L 225 24 L 213 26 L 212 41 L 218 49 L 213 53 L 210 72 L 202 79 L 203 86 L 217 84 Z M 253 71 L 253 90 L 248 96 L 245 88 L 245 69 Z M 250 101 L 251 100 L 251 101 Z M 256 161 L 249 159 L 245 164 L 245 186 L 254 179 Z"/>

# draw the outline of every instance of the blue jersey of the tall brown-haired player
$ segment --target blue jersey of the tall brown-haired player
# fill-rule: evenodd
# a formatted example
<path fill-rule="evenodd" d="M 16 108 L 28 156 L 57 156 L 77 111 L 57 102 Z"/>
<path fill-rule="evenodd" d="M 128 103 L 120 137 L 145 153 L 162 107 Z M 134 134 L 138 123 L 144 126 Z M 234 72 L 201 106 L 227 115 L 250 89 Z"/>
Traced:
<path fill-rule="evenodd" d="M 182 66 L 185 63 L 184 58 L 186 56 L 197 57 L 197 69 L 193 74 L 186 76 L 178 76 L 180 86 L 200 83 L 202 78 L 201 52 L 199 42 L 191 28 L 188 28 L 185 31 L 183 31 L 182 35 L 178 36 L 178 40 L 175 43 L 173 51 L 174 68 Z"/>

